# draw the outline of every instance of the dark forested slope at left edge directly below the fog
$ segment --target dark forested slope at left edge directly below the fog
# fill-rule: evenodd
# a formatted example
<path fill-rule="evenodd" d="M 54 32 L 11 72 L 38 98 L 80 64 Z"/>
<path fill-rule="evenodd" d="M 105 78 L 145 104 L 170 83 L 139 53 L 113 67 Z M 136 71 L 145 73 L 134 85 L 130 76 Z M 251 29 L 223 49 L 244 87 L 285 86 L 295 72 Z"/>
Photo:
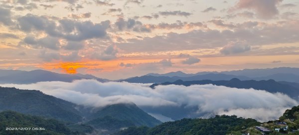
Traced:
<path fill-rule="evenodd" d="M 11 110 L 76 123 L 82 121 L 82 117 L 75 106 L 37 90 L 0 87 L 0 111 Z"/>

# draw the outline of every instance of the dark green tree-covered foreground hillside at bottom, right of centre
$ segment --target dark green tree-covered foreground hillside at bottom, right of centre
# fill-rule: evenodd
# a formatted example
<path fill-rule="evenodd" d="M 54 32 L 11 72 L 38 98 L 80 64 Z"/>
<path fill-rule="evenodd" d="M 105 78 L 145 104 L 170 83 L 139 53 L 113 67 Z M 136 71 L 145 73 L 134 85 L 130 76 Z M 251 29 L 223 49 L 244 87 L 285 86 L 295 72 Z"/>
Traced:
<path fill-rule="evenodd" d="M 241 131 L 260 123 L 253 119 L 237 118 L 237 116 L 216 116 L 210 119 L 182 119 L 166 122 L 156 127 L 132 127 L 115 135 L 225 135 L 231 131 Z M 140 135 L 141 135 L 140 134 Z"/>

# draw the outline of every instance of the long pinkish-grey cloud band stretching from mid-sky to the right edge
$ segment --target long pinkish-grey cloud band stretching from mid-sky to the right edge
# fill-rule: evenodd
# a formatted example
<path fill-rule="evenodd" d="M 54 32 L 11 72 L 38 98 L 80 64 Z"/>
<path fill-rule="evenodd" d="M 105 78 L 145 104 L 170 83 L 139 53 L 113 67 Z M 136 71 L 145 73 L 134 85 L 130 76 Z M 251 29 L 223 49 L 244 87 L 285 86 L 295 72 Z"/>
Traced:
<path fill-rule="evenodd" d="M 233 30 L 193 30 L 181 34 L 170 32 L 162 36 L 144 37 L 142 40 L 128 39 L 127 43 L 118 43 L 117 46 L 130 53 L 219 48 L 235 41 L 247 41 L 251 46 L 299 42 L 299 20 L 273 24 L 249 21 L 234 25 Z"/>

